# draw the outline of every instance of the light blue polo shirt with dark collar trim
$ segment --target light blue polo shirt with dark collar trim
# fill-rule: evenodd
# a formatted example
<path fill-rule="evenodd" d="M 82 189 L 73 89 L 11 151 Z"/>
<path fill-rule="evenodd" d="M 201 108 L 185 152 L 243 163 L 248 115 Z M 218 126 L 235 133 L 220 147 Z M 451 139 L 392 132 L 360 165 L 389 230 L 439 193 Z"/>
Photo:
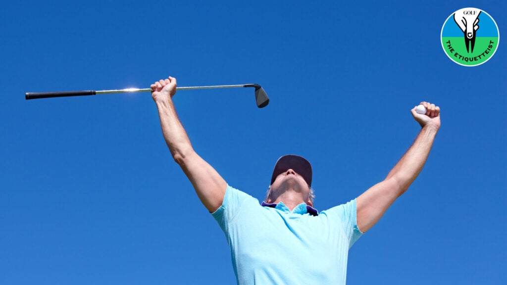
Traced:
<path fill-rule="evenodd" d="M 363 234 L 355 199 L 317 216 L 305 203 L 292 212 L 281 202 L 273 206 L 227 186 L 212 213 L 229 242 L 238 284 L 345 284 L 348 250 Z"/>

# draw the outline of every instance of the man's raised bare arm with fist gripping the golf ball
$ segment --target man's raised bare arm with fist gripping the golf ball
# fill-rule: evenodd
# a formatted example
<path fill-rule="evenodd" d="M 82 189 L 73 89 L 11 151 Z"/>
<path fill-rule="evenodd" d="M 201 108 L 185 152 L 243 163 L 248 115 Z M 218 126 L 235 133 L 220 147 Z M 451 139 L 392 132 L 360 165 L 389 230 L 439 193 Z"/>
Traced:
<path fill-rule="evenodd" d="M 433 140 L 440 128 L 440 108 L 428 102 L 421 102 L 426 114 L 418 114 L 412 109 L 412 116 L 422 129 L 414 143 L 398 163 L 392 168 L 384 181 L 374 185 L 356 199 L 357 227 L 361 232 L 375 225 L 387 208 L 400 197 L 414 182 L 422 170 Z"/>

